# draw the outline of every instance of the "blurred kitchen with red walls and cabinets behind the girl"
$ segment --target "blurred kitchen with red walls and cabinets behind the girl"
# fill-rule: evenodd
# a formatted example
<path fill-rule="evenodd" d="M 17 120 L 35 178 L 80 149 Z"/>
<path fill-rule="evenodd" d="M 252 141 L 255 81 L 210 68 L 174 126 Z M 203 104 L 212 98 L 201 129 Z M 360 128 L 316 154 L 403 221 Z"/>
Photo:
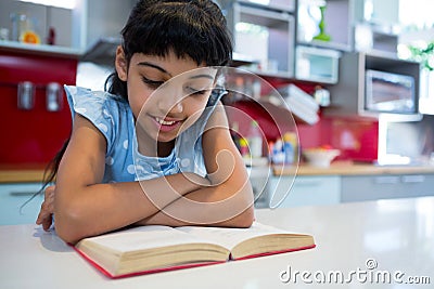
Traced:
<path fill-rule="evenodd" d="M 5 185 L 38 183 L 40 171 L 71 132 L 62 86 L 103 89 L 113 71 L 119 31 L 135 2 L 0 2 L 0 166 L 3 172 L 16 173 L 3 174 Z M 265 132 L 260 161 L 251 163 L 259 168 L 252 169 L 252 176 L 255 169 L 263 176 L 270 172 L 269 165 L 285 165 L 292 178 L 281 182 L 285 187 L 281 196 L 291 186 L 296 192 L 297 184 L 308 188 L 299 197 L 291 194 L 288 206 L 401 197 L 393 192 L 403 180 L 421 187 L 412 189 L 417 195 L 434 194 L 433 1 L 216 2 L 234 39 L 232 66 L 263 80 L 255 82 L 252 74 L 233 77 L 231 86 L 238 93 L 229 93 L 225 100 L 251 116 Z M 279 91 L 283 103 L 270 101 L 276 93 L 270 88 Z M 251 94 L 267 103 L 271 107 L 268 111 L 280 115 L 279 123 L 270 123 L 268 111 L 252 105 L 245 97 Z M 230 122 L 238 135 L 248 136 L 251 122 L 237 118 Z M 271 146 L 285 142 L 273 126 L 289 133 L 291 158 L 272 158 Z M 240 137 L 235 141 L 240 145 Z M 303 150 L 309 148 L 339 149 L 340 155 L 320 172 L 303 171 L 308 168 Z M 301 167 L 291 168 L 298 159 Z M 339 163 L 342 170 L 333 171 L 333 165 Z M 366 170 L 357 171 L 359 165 Z M 419 169 L 392 171 L 392 175 L 384 170 L 397 166 Z M 271 167 L 273 178 L 277 167 Z M 383 170 L 376 173 L 372 168 L 379 167 Z M 297 169 L 299 178 L 294 182 Z M 372 193 L 368 197 L 353 192 L 357 185 L 352 178 L 358 176 L 357 184 L 366 184 L 368 181 L 360 179 L 366 175 L 381 176 L 372 179 L 373 184 L 386 183 L 394 188 L 388 192 L 383 186 L 380 191 L 386 192 L 384 195 Z M 260 184 L 257 192 L 277 186 L 272 182 Z M 21 191 L 23 200 L 28 189 Z"/>

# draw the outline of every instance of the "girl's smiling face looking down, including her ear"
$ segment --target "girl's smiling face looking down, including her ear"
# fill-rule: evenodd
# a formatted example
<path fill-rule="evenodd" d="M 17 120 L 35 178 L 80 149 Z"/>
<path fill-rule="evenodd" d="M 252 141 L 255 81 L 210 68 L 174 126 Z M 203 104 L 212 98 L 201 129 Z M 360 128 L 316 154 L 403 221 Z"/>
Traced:
<path fill-rule="evenodd" d="M 178 58 L 173 52 L 165 57 L 135 53 L 127 67 L 122 49 L 116 55 L 116 70 L 127 81 L 137 130 L 149 141 L 164 143 L 174 141 L 197 120 L 217 73 L 191 58 Z"/>

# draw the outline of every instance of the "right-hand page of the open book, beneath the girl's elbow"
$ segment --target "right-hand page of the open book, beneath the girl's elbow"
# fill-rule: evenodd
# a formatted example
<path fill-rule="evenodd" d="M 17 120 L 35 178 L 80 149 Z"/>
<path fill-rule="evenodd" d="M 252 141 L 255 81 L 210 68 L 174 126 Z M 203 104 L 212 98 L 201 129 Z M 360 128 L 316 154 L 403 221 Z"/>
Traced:
<path fill-rule="evenodd" d="M 177 227 L 176 229 L 188 233 L 192 236 L 209 239 L 210 241 L 230 250 L 238 244 L 254 237 L 270 234 L 291 234 L 290 232 L 257 222 L 254 222 L 248 228 L 183 226 Z"/>

